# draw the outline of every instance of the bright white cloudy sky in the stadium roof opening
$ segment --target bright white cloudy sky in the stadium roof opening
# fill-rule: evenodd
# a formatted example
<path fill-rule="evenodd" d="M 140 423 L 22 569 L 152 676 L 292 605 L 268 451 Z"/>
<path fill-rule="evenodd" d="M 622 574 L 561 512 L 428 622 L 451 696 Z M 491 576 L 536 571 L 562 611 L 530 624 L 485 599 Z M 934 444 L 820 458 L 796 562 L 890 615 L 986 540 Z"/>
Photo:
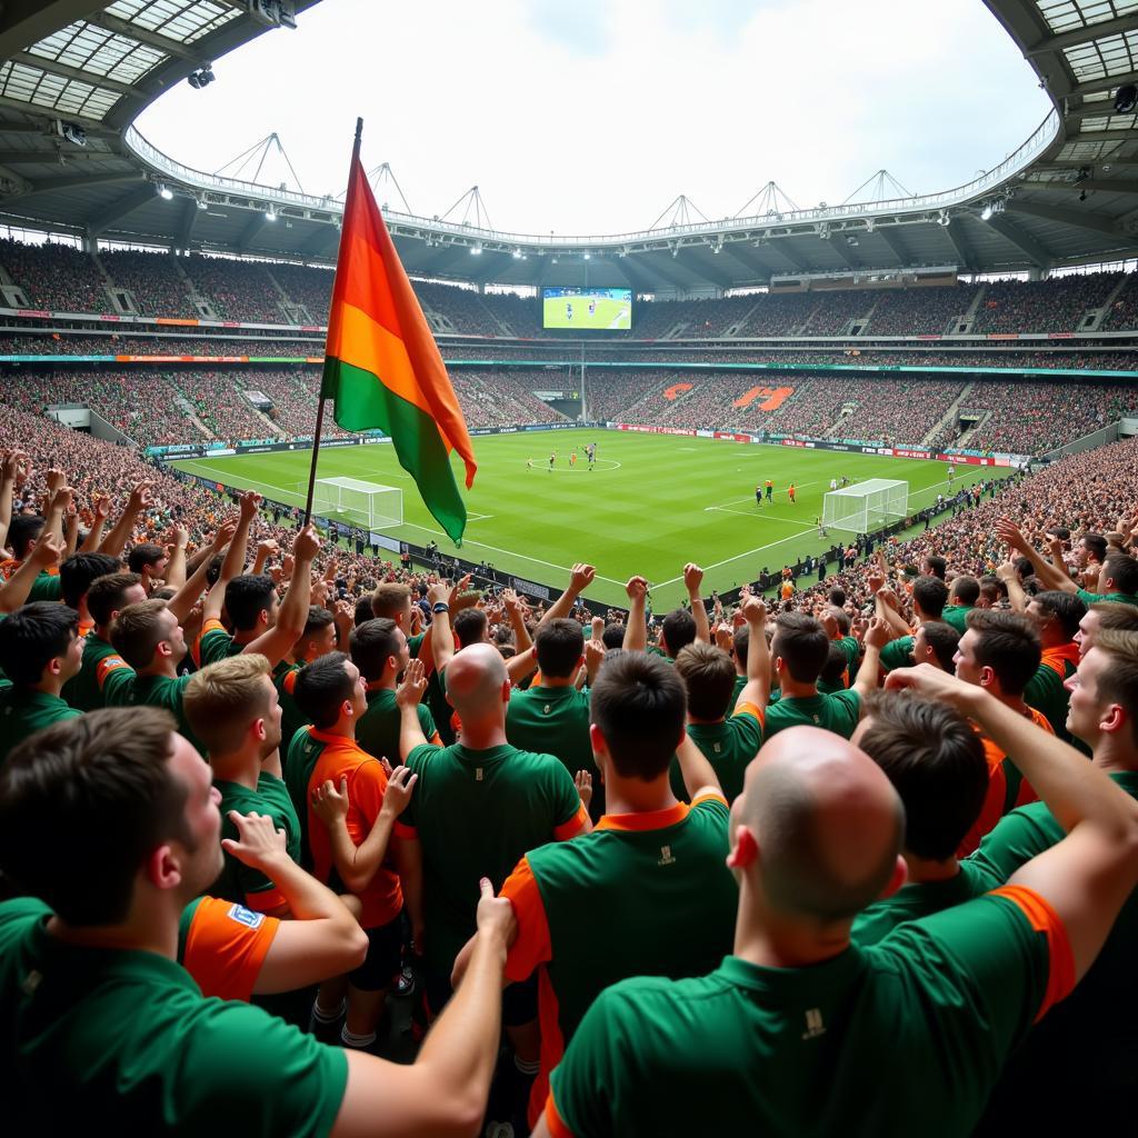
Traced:
<path fill-rule="evenodd" d="M 207 171 L 277 131 L 304 189 L 339 193 L 362 115 L 365 167 L 389 162 L 417 214 L 477 183 L 500 230 L 586 236 L 678 193 L 731 216 L 770 179 L 802 208 L 882 167 L 948 189 L 1049 109 L 980 0 L 324 0 L 298 23 L 139 130 Z"/>

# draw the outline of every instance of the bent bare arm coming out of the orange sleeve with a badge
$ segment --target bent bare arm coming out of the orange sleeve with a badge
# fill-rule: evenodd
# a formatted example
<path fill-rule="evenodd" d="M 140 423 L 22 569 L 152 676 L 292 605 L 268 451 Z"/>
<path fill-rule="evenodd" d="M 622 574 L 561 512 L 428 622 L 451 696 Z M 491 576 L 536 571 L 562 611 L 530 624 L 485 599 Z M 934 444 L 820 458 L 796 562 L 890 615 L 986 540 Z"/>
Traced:
<path fill-rule="evenodd" d="M 222 839 L 225 851 L 269 877 L 294 918 L 277 930 L 254 992 L 295 991 L 358 967 L 368 954 L 366 935 L 344 902 L 288 856 L 284 831 L 262 814 L 230 810 L 229 817 L 238 836 Z"/>

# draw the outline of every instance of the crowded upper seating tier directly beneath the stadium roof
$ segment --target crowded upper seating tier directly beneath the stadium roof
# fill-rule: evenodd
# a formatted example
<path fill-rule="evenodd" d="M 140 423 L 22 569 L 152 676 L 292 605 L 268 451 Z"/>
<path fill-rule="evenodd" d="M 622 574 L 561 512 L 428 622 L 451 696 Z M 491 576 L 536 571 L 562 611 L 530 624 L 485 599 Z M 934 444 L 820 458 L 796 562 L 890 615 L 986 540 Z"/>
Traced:
<path fill-rule="evenodd" d="M 753 292 L 703 300 L 642 300 L 622 339 L 976 336 L 1138 330 L 1136 274 L 1079 273 L 1044 281 Z M 84 253 L 0 240 L 9 311 L 240 322 L 318 331 L 332 273 L 262 261 L 135 250 Z M 538 302 L 514 294 L 414 281 L 443 337 L 547 337 Z M 25 313 L 26 314 L 26 313 Z"/>

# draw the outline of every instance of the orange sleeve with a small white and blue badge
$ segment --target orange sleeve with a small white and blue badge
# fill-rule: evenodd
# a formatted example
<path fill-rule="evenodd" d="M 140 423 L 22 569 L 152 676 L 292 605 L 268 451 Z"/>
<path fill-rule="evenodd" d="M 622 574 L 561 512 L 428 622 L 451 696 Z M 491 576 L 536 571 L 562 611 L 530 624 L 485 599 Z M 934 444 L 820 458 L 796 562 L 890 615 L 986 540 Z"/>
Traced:
<path fill-rule="evenodd" d="M 178 960 L 203 996 L 248 1003 L 280 921 L 218 897 L 199 897 L 182 910 Z"/>

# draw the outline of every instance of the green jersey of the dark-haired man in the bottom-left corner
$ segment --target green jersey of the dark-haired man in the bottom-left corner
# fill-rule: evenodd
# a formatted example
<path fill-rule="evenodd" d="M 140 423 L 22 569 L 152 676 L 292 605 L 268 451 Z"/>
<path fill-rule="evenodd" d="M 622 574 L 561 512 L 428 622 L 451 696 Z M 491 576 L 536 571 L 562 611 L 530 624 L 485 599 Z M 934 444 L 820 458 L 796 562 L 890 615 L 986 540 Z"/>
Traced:
<path fill-rule="evenodd" d="M 347 1085 L 338 1047 L 258 1007 L 206 999 L 157 953 L 84 948 L 47 931 L 50 910 L 0 905 L 5 1127 L 82 1133 L 323 1138 Z"/>

